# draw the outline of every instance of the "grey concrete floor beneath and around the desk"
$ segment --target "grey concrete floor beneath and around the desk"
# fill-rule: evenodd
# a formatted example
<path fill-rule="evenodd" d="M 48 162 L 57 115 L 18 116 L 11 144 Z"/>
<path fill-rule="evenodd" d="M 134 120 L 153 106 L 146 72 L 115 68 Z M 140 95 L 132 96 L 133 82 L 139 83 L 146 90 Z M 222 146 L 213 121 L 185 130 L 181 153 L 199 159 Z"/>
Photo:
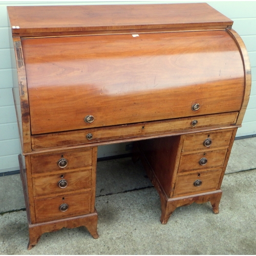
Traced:
<path fill-rule="evenodd" d="M 18 210 L 25 207 L 19 176 L 0 177 L 0 212 L 6 212 L 0 216 L 0 254 L 256 254 L 255 142 L 235 141 L 218 215 L 210 203 L 191 204 L 177 208 L 166 225 L 140 162 L 98 162 L 99 238 L 84 227 L 63 228 L 42 234 L 30 251 L 26 211 Z"/>

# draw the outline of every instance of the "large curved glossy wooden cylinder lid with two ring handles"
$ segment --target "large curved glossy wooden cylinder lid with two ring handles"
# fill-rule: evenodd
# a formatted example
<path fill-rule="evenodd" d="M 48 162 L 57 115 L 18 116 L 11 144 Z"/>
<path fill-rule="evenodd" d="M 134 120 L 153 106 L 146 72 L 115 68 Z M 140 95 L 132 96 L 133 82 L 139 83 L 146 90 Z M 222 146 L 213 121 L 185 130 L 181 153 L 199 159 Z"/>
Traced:
<path fill-rule="evenodd" d="M 225 30 L 24 38 L 22 45 L 33 135 L 241 109 L 243 61 Z"/>

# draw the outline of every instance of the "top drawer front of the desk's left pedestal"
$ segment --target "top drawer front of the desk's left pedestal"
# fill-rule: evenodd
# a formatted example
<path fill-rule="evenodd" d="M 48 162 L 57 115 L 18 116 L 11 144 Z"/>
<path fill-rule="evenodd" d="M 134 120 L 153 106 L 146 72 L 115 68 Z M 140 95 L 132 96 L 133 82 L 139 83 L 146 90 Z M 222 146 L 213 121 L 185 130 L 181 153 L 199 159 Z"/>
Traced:
<path fill-rule="evenodd" d="M 66 167 L 59 167 L 61 159 L 67 160 Z M 65 161 L 63 162 L 65 164 Z M 60 163 L 61 165 L 61 163 Z M 55 170 L 68 170 L 92 165 L 92 149 L 86 151 L 63 151 L 59 153 L 31 156 L 32 174 L 48 173 Z"/>

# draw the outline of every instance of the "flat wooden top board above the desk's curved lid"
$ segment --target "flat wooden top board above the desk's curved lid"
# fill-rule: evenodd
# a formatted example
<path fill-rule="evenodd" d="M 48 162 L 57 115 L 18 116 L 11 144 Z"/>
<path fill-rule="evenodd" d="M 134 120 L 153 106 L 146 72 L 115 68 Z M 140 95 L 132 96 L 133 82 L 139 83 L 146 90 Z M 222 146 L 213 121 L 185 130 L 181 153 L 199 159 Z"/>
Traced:
<path fill-rule="evenodd" d="M 101 6 L 9 6 L 14 34 L 111 30 L 230 28 L 232 20 L 205 3 Z"/>

